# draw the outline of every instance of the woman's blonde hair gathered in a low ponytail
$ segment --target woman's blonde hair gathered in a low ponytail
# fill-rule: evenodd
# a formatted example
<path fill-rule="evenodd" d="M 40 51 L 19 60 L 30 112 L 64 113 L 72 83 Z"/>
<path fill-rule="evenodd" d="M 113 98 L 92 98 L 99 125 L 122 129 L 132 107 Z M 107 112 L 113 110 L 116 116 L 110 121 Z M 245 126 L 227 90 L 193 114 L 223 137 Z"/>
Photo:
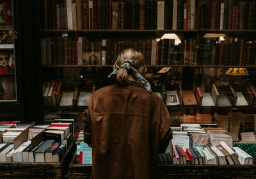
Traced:
<path fill-rule="evenodd" d="M 146 66 L 145 66 L 145 60 L 143 59 L 143 55 L 141 54 L 140 51 L 136 51 L 135 49 L 129 48 L 129 49 L 124 49 L 120 54 L 118 54 L 118 57 L 116 59 L 114 69 L 118 68 L 118 66 L 122 65 L 122 62 L 125 61 L 125 59 L 132 59 L 133 67 L 138 70 L 138 72 L 141 75 L 144 75 L 146 72 Z M 127 85 L 129 84 L 128 82 L 128 77 L 130 74 L 127 72 L 125 68 L 120 68 L 120 70 L 116 74 L 116 80 L 120 84 Z"/>

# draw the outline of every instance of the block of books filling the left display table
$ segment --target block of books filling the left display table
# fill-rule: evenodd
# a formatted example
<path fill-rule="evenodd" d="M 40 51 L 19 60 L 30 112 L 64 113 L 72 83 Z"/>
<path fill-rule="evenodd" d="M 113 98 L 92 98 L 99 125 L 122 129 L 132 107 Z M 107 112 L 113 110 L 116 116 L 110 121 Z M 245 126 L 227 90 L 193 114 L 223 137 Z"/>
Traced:
<path fill-rule="evenodd" d="M 1 162 L 60 162 L 73 140 L 72 119 L 56 119 L 51 125 L 11 122 L 3 124 L 8 128 L 2 132 Z M 20 143 L 20 140 L 24 142 Z"/>

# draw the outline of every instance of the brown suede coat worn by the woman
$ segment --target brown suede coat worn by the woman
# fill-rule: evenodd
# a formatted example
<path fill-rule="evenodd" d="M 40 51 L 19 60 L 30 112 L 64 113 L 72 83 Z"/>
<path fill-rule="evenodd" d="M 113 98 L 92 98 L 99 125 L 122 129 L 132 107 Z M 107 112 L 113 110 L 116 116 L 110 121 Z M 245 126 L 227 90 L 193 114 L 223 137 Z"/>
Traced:
<path fill-rule="evenodd" d="M 92 144 L 93 178 L 157 178 L 158 153 L 172 138 L 161 98 L 136 82 L 93 93 L 84 112 L 84 140 Z"/>

